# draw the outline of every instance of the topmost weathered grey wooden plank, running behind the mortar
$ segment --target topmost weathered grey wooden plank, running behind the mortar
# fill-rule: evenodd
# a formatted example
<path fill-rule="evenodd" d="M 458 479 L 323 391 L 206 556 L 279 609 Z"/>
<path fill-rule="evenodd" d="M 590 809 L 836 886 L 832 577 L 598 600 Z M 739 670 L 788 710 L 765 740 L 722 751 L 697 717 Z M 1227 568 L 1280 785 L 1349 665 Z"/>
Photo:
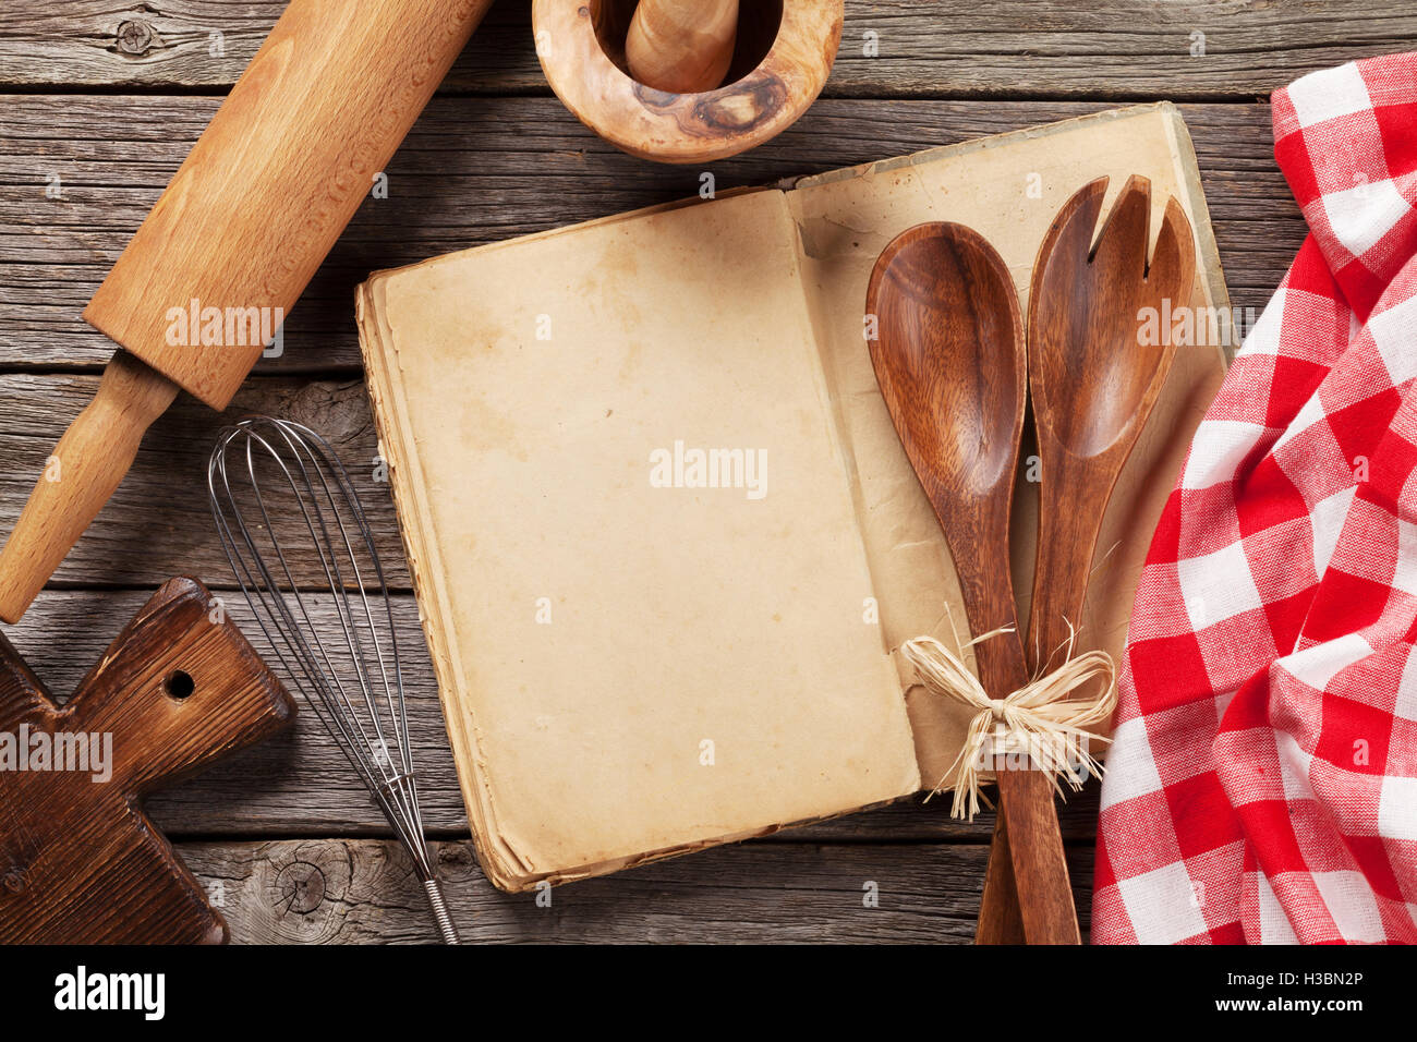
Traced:
<path fill-rule="evenodd" d="M 0 85 L 220 91 L 283 7 L 47 0 L 0 26 Z M 529 9 L 499 0 L 444 89 L 547 92 Z M 1254 98 L 1417 40 L 1406 0 L 850 0 L 846 9 L 828 96 Z"/>

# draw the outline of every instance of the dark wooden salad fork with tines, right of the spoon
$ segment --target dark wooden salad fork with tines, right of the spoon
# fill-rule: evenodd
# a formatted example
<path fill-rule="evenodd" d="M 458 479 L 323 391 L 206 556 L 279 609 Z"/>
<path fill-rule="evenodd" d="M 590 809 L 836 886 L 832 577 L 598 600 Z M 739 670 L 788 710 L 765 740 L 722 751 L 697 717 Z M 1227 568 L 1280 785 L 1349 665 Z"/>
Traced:
<path fill-rule="evenodd" d="M 1029 386 L 1039 435 L 1039 549 L 1029 611 L 1029 668 L 1056 668 L 1078 627 L 1102 515 L 1176 352 L 1170 329 L 1144 343 L 1141 315 L 1190 306 L 1190 221 L 1166 204 L 1151 264 L 1151 183 L 1131 177 L 1093 250 L 1107 179 L 1077 191 L 1039 248 L 1029 292 Z M 1158 325 L 1161 325 L 1158 322 Z M 981 944 L 1020 940 L 1009 909 L 1007 824 L 1000 819 L 979 912 Z"/>

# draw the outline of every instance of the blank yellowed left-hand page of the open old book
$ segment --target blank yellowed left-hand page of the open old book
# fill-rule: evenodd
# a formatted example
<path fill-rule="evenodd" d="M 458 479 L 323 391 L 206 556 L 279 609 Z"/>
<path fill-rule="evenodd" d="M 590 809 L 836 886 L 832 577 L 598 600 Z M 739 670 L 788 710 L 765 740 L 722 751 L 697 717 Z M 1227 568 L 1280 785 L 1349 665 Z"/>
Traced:
<path fill-rule="evenodd" d="M 499 886 L 920 787 L 795 235 L 764 191 L 361 289 L 449 734 Z M 744 464 L 696 486 L 690 454 L 710 448 Z"/>

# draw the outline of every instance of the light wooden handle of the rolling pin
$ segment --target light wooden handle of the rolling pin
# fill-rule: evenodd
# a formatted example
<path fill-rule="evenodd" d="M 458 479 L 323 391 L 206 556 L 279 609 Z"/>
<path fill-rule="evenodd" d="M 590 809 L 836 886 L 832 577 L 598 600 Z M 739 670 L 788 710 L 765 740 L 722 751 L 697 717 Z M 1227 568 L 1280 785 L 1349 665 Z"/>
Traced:
<path fill-rule="evenodd" d="M 126 352 L 113 354 L 94 401 L 64 432 L 0 551 L 0 618 L 20 621 L 123 481 L 143 432 L 176 397 L 171 380 Z"/>

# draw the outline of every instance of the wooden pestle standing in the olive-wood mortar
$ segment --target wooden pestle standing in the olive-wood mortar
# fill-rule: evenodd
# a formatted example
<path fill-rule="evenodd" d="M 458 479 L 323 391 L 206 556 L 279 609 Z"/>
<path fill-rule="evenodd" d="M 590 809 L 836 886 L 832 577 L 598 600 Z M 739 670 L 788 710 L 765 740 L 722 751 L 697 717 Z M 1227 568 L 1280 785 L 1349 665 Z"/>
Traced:
<path fill-rule="evenodd" d="M 631 75 L 667 94 L 723 86 L 738 37 L 738 0 L 640 0 L 625 38 Z"/>

